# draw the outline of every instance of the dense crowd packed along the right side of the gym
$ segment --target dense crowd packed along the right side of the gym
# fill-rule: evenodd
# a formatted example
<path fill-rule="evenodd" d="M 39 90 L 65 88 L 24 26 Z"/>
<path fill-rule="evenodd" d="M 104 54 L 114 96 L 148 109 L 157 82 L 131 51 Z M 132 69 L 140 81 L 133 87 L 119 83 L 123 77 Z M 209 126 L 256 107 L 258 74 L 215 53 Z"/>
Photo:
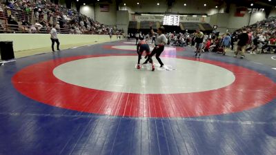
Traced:
<path fill-rule="evenodd" d="M 271 53 L 276 51 L 276 17 L 270 17 L 263 21 L 254 23 L 253 25 L 244 26 L 233 33 L 226 33 L 219 35 L 219 33 L 211 34 L 209 37 L 210 45 L 208 51 L 224 53 L 225 49 L 222 47 L 222 41 L 227 36 L 230 36 L 230 45 L 228 47 L 233 52 L 237 51 L 237 41 L 239 36 L 244 32 L 248 34 L 248 41 L 246 43 L 246 53 L 259 54 Z M 207 42 L 206 42 L 207 43 Z M 207 49 L 205 49 L 207 50 Z"/>

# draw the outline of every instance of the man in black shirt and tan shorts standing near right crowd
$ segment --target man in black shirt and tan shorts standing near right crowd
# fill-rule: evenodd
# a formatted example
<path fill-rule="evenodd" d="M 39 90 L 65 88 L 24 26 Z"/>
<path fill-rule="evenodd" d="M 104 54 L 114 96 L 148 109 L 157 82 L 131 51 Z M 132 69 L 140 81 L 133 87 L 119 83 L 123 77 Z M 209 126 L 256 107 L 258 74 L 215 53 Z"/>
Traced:
<path fill-rule="evenodd" d="M 235 52 L 235 56 L 237 57 L 237 54 L 239 54 L 239 52 L 241 52 L 241 59 L 244 58 L 244 53 L 246 51 L 246 44 L 248 43 L 248 34 L 246 32 L 246 30 L 242 31 L 242 34 L 239 34 L 239 37 L 237 38 L 237 51 Z"/>

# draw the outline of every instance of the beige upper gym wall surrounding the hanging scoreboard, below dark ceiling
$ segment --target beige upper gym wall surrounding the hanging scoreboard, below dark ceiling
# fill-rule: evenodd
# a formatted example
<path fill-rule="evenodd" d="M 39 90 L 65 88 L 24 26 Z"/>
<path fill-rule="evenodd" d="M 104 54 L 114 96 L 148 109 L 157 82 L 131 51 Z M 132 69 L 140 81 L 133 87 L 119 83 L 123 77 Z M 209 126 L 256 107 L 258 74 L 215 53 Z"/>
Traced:
<path fill-rule="evenodd" d="M 245 25 L 256 23 L 257 21 L 262 21 L 266 18 L 265 12 L 255 12 L 251 14 L 246 10 L 244 17 L 236 17 L 237 7 L 235 4 L 230 5 L 230 12 L 226 13 L 226 4 L 221 4 L 219 8 L 215 8 L 217 3 L 215 1 L 206 1 L 207 6 L 204 7 L 204 1 L 201 0 L 188 0 L 187 6 L 184 6 L 184 1 L 176 1 L 172 3 L 172 7 L 168 7 L 166 0 L 158 1 L 159 6 L 157 6 L 157 1 L 140 1 L 137 2 L 132 0 L 125 0 L 119 3 L 119 9 L 125 10 L 126 12 L 117 11 L 115 0 L 112 3 L 103 2 L 109 4 L 108 12 L 101 12 L 99 4 L 96 3 L 95 7 L 91 5 L 81 6 L 80 12 L 86 14 L 88 17 L 93 17 L 96 21 L 104 23 L 106 25 L 117 25 L 117 28 L 123 28 L 125 31 L 128 27 L 128 21 L 131 21 L 132 14 L 135 12 L 156 12 L 164 14 L 164 12 L 178 12 L 181 14 L 208 14 L 210 16 L 210 25 L 218 25 L 219 32 L 230 32 L 238 28 L 242 28 Z M 126 3 L 126 6 L 124 6 Z M 74 7 L 74 5 L 72 5 Z M 127 15 L 128 14 L 128 15 Z M 273 8 L 270 12 L 269 17 L 276 16 L 276 9 Z"/>

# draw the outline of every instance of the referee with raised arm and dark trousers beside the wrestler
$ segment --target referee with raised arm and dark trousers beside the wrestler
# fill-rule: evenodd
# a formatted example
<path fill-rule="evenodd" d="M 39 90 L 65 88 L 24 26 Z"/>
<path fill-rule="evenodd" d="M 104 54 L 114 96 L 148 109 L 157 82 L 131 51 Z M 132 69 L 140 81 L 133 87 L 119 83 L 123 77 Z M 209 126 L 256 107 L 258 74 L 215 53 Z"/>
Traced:
<path fill-rule="evenodd" d="M 152 28 L 150 27 L 150 32 L 151 34 L 155 35 L 156 33 L 152 30 Z M 148 61 L 150 61 L 151 57 L 154 56 L 157 59 L 157 61 L 160 64 L 160 68 L 164 66 L 164 63 L 161 61 L 161 59 L 159 58 L 159 56 L 161 55 L 161 53 L 164 51 L 164 46 L 166 45 L 166 43 L 168 43 L 168 39 L 165 36 L 165 28 L 164 27 L 160 27 L 157 30 L 157 39 L 155 42 L 155 48 L 152 50 L 152 52 L 150 53 L 150 56 L 148 56 L 148 59 L 146 59 L 146 61 L 143 64 L 148 63 Z"/>

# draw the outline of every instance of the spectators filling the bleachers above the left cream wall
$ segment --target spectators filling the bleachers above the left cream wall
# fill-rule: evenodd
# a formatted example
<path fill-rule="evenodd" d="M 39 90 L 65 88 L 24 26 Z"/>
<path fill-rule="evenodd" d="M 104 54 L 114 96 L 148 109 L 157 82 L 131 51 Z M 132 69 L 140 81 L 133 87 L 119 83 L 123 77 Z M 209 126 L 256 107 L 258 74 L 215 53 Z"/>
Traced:
<path fill-rule="evenodd" d="M 76 10 L 44 0 L 1 1 L 0 22 L 0 32 L 48 33 L 52 25 L 58 32 L 67 34 L 123 33 Z"/>

